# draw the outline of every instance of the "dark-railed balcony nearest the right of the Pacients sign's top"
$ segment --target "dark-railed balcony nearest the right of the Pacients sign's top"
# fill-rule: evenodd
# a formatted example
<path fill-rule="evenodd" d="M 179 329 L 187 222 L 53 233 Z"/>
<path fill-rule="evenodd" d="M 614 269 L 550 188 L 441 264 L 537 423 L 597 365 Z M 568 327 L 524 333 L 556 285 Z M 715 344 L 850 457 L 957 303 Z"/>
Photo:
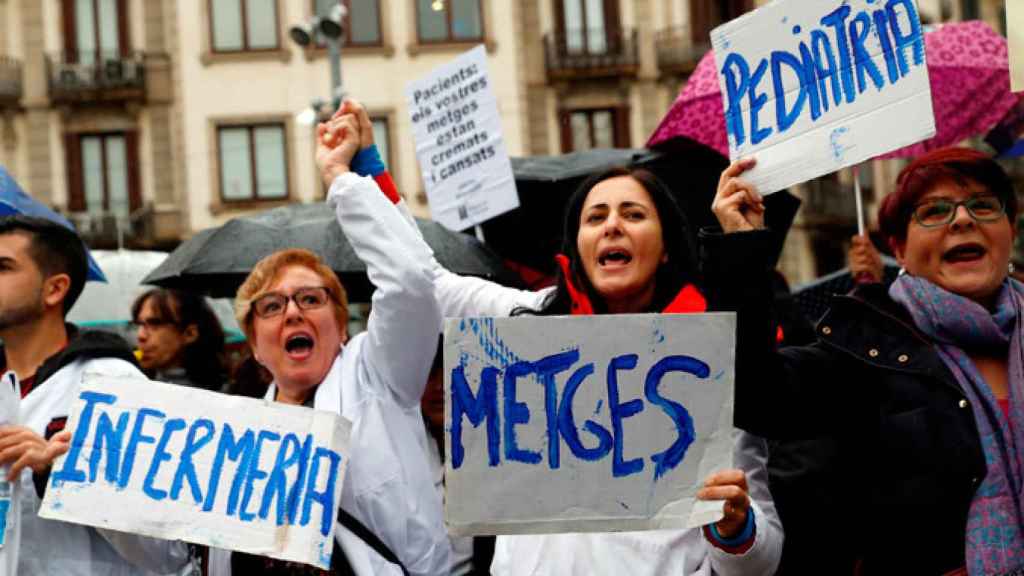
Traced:
<path fill-rule="evenodd" d="M 579 29 L 544 35 L 548 80 L 637 75 L 636 30 Z"/>

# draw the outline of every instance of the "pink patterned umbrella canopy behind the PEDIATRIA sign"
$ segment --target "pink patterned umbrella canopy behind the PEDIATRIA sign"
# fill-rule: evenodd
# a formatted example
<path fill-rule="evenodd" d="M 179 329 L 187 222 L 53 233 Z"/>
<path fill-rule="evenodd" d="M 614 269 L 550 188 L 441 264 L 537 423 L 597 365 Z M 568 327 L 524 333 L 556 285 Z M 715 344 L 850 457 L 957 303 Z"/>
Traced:
<path fill-rule="evenodd" d="M 1010 91 L 1007 40 L 978 20 L 950 23 L 925 33 L 936 134 L 881 158 L 908 158 L 990 129 L 1016 105 Z M 682 135 L 729 154 L 715 55 L 709 51 L 686 82 L 647 146 Z"/>

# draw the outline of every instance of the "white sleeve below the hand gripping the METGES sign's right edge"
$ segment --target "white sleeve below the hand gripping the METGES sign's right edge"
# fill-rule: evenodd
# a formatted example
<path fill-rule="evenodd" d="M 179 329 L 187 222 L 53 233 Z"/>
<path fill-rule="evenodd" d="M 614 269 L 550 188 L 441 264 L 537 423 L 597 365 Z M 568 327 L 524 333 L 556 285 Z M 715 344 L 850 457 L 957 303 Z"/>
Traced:
<path fill-rule="evenodd" d="M 754 508 L 754 545 L 732 554 L 708 543 L 712 572 L 719 576 L 771 576 L 782 556 L 782 523 L 768 490 L 768 444 L 764 439 L 735 430 L 733 458 L 746 474 L 746 489 Z"/>

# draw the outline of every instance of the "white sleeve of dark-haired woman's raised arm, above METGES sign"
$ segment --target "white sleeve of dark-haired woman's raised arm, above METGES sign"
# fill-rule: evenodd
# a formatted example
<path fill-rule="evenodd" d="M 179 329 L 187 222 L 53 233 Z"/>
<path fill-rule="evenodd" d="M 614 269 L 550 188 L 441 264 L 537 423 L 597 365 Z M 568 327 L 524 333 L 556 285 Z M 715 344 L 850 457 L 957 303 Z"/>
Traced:
<path fill-rule="evenodd" d="M 409 211 L 406 201 L 398 202 L 396 206 L 422 242 L 420 229 L 416 225 L 416 219 Z M 423 244 L 426 246 L 425 242 Z M 426 246 L 426 249 L 430 251 L 430 271 L 434 278 L 437 303 L 441 307 L 441 318 L 504 317 L 520 307 L 541 310 L 551 292 L 550 289 L 537 292 L 517 290 L 482 278 L 459 276 L 442 266 L 434 258 L 434 253 L 429 246 Z"/>

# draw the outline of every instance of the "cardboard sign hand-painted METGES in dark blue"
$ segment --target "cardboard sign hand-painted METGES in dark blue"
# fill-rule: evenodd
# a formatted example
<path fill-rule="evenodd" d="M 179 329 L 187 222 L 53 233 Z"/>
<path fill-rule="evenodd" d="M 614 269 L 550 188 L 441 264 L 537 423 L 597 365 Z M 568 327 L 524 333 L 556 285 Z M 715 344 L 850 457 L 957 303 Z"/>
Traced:
<path fill-rule="evenodd" d="M 699 526 L 731 462 L 732 314 L 450 319 L 445 521 L 457 535 Z"/>

